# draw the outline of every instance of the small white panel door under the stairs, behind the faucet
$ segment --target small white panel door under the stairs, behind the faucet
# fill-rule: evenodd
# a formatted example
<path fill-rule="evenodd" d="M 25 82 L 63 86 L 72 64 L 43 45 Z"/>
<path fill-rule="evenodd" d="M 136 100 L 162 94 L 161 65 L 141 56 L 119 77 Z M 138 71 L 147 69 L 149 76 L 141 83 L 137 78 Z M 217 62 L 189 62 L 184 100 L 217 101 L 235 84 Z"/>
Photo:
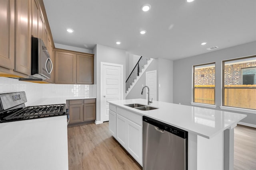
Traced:
<path fill-rule="evenodd" d="M 146 86 L 149 87 L 150 90 L 150 100 L 153 98 L 153 100 L 156 100 L 157 96 L 157 84 L 156 84 L 156 70 L 148 71 L 146 72 Z M 148 99 L 148 90 L 146 90 L 146 99 Z"/>

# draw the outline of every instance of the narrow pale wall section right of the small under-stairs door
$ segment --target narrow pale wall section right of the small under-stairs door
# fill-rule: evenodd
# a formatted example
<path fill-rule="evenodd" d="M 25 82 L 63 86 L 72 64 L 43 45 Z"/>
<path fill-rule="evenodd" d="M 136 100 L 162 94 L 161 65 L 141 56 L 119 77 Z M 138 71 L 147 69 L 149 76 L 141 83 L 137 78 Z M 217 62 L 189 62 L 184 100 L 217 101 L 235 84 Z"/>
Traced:
<path fill-rule="evenodd" d="M 173 61 L 161 58 L 158 58 L 158 101 L 173 102 Z"/>

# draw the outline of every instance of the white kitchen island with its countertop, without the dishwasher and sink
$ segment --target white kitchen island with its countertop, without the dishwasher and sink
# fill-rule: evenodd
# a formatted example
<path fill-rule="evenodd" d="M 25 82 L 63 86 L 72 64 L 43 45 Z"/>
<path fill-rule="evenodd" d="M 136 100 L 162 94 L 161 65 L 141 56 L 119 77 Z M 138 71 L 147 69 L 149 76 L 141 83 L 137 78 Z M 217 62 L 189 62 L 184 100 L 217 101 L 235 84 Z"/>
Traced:
<path fill-rule="evenodd" d="M 158 109 L 142 111 L 125 104 L 147 105 L 145 99 L 110 103 L 113 137 L 142 165 L 142 116 L 188 131 L 188 170 L 234 169 L 234 127 L 246 115 L 153 101 Z"/>

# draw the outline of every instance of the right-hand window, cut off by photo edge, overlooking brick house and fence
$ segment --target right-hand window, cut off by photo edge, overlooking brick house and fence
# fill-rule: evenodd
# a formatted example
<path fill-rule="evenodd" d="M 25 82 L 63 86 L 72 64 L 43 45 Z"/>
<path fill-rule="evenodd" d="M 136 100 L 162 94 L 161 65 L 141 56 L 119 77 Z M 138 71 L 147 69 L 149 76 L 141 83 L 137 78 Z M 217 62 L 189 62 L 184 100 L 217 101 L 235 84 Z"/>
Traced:
<path fill-rule="evenodd" d="M 256 109 L 256 56 L 223 61 L 222 105 Z"/>

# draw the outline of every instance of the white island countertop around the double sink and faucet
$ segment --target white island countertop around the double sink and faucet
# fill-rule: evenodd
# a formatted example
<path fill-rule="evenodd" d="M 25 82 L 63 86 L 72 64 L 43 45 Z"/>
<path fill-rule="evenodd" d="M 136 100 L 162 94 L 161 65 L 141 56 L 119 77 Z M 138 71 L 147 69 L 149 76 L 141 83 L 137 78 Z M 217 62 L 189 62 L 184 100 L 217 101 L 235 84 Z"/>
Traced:
<path fill-rule="evenodd" d="M 246 115 L 239 113 L 158 101 L 153 101 L 153 104 L 150 106 L 158 107 L 159 109 L 149 111 L 124 106 L 124 104 L 134 103 L 147 105 L 148 100 L 146 99 L 114 100 L 108 102 L 208 139 L 225 129 L 233 128 L 238 121 L 246 117 Z"/>

